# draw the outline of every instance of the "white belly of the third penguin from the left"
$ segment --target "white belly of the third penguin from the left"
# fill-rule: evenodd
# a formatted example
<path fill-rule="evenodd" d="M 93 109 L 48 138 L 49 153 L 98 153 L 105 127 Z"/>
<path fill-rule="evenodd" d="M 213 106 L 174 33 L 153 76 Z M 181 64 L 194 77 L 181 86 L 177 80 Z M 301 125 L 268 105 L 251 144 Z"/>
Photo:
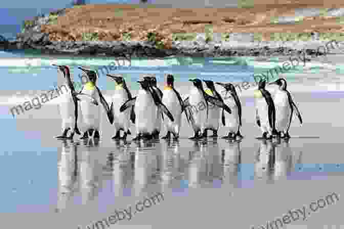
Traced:
<path fill-rule="evenodd" d="M 123 128 L 124 131 L 127 131 L 130 127 L 130 113 L 132 108 L 128 108 L 123 112 L 119 111 L 119 108 L 128 100 L 126 91 L 124 89 L 116 90 L 116 94 L 112 97 L 113 102 L 113 113 L 114 113 L 114 125 L 116 131 L 120 128 Z"/>

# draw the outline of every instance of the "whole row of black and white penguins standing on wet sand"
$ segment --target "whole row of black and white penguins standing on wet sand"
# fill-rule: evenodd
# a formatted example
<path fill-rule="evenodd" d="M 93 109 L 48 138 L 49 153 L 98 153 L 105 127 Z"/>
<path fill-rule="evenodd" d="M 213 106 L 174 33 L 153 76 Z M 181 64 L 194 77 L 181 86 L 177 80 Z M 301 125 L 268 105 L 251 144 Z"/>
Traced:
<path fill-rule="evenodd" d="M 78 67 L 82 70 L 82 76 L 86 77 L 88 81 L 84 82 L 80 92 L 77 92 L 72 82 L 69 66 L 54 66 L 57 66 L 60 77 L 63 77 L 70 89 L 69 93 L 61 95 L 59 108 L 62 119 L 62 135 L 57 136 L 57 139 L 73 139 L 75 133 L 81 134 L 77 126 L 78 107 L 81 110 L 81 117 L 86 129 L 81 139 L 99 139 L 101 117 L 99 102 L 102 104 L 110 124 L 115 127 L 113 140 L 126 140 L 127 135 L 131 134 L 130 122 L 136 126 L 136 136 L 133 141 L 159 138 L 162 123 L 167 131 L 163 139 L 170 139 L 171 134 L 174 139 L 178 139 L 183 112 L 194 131 L 194 135 L 189 139 L 207 138 L 208 130 L 212 130 L 213 135 L 211 136 L 217 137 L 220 113 L 223 126 L 229 128 L 228 135 L 223 139 L 240 140 L 243 138 L 240 133 L 242 106 L 235 87 L 231 83 L 216 83 L 225 89 L 226 96 L 229 94 L 224 101 L 213 81 L 203 80 L 208 87 L 208 89 L 204 89 L 200 79 L 190 79 L 193 86 L 189 96 L 182 100 L 174 87 L 173 75 L 166 74 L 166 85 L 163 91 L 157 86 L 154 75 L 145 75 L 143 79 L 137 81 L 140 89 L 138 95 L 133 97 L 121 75 L 106 74 L 116 84 L 111 106 L 109 106 L 96 85 L 98 76 L 95 71 Z M 261 80 L 258 83 L 258 89 L 254 91 L 256 123 L 262 131 L 262 139 L 289 139 L 289 128 L 294 111 L 300 123 L 303 122 L 300 112 L 286 89 L 285 79 L 280 78 L 269 84 L 278 85 L 274 98 L 265 89 L 265 80 Z M 203 105 L 203 109 L 199 108 L 200 104 Z M 122 137 L 120 136 L 121 130 L 124 132 Z M 69 131 L 71 133 L 68 136 Z"/>

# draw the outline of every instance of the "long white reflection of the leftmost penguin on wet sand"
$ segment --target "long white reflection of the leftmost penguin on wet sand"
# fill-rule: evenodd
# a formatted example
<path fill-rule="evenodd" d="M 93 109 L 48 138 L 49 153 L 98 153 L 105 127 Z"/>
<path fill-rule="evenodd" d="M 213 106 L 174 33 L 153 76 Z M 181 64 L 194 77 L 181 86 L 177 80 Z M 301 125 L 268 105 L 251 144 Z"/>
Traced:
<path fill-rule="evenodd" d="M 66 209 L 74 192 L 77 179 L 77 146 L 73 141 L 62 140 L 61 159 L 57 164 L 59 178 L 57 212 Z"/>

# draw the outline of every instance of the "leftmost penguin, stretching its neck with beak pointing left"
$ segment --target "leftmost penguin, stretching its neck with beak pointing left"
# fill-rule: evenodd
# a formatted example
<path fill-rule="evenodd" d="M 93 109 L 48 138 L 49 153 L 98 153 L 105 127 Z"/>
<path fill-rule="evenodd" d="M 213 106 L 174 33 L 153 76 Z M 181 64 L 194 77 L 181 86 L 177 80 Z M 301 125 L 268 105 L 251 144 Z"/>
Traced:
<path fill-rule="evenodd" d="M 59 110 L 62 119 L 62 135 L 56 136 L 57 139 L 73 139 L 75 133 L 81 134 L 77 121 L 78 121 L 78 99 L 75 96 L 75 89 L 72 82 L 71 71 L 66 65 L 56 65 L 58 72 L 63 75 L 63 81 L 70 91 L 60 96 Z M 72 130 L 73 129 L 73 130 Z M 68 131 L 71 130 L 70 136 L 67 136 Z"/>

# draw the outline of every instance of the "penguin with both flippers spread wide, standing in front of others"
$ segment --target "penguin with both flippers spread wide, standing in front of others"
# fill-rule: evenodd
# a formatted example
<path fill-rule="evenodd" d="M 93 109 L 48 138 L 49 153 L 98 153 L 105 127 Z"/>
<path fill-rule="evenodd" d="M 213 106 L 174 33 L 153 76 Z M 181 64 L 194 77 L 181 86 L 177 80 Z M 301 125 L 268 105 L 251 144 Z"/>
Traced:
<path fill-rule="evenodd" d="M 133 141 L 140 139 L 152 139 L 152 133 L 155 127 L 156 107 L 158 106 L 162 112 L 173 122 L 174 117 L 170 111 L 159 100 L 156 91 L 150 87 L 150 81 L 147 79 L 137 81 L 141 85 L 138 95 L 131 100 L 126 101 L 121 107 L 120 112 L 135 105 L 135 114 L 137 120 L 136 124 L 136 137 Z"/>

